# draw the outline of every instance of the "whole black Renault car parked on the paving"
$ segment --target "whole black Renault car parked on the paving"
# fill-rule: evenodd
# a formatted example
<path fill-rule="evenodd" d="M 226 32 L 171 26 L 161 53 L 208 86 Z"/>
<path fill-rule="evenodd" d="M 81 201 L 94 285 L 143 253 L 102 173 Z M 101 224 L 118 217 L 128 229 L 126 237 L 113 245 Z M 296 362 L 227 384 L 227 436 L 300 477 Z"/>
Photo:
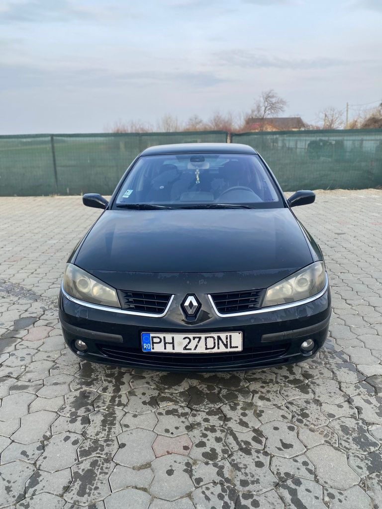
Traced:
<path fill-rule="evenodd" d="M 310 358 L 328 334 L 322 253 L 251 147 L 143 151 L 69 257 L 59 298 L 83 359 L 166 371 L 231 371 Z"/>

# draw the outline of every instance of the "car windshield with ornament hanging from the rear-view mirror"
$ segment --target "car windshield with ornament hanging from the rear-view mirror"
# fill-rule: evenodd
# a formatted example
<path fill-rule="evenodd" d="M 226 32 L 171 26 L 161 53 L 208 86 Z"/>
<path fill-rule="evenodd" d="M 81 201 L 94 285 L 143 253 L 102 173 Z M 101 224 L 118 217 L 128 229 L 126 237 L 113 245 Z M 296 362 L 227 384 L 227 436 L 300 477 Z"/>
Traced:
<path fill-rule="evenodd" d="M 277 208 L 281 196 L 255 154 L 142 156 L 128 173 L 117 208 Z"/>

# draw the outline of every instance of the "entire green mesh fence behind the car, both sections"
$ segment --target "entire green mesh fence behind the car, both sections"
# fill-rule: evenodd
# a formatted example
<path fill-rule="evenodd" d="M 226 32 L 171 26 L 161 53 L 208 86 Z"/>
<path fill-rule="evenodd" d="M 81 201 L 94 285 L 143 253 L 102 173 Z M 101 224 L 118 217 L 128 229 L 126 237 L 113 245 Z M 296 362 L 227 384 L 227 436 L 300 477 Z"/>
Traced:
<path fill-rule="evenodd" d="M 111 194 L 142 150 L 227 142 L 225 131 L 0 136 L 0 195 Z M 232 134 L 254 147 L 284 191 L 382 186 L 382 130 Z"/>

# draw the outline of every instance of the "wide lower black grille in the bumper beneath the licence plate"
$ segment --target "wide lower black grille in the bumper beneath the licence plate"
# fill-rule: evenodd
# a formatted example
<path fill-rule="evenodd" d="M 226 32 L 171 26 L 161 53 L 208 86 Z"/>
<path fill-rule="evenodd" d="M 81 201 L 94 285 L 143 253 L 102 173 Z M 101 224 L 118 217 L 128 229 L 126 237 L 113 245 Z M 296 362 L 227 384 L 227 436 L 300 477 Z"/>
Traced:
<path fill-rule="evenodd" d="M 256 348 L 244 348 L 242 352 L 227 354 L 161 354 L 142 352 L 137 348 L 98 345 L 100 352 L 110 360 L 125 362 L 130 366 L 145 365 L 151 369 L 186 369 L 188 371 L 203 371 L 208 369 L 241 369 L 255 367 L 256 364 L 274 365 L 287 362 L 283 357 L 290 344 L 268 345 Z M 280 358 L 281 357 L 281 358 Z"/>

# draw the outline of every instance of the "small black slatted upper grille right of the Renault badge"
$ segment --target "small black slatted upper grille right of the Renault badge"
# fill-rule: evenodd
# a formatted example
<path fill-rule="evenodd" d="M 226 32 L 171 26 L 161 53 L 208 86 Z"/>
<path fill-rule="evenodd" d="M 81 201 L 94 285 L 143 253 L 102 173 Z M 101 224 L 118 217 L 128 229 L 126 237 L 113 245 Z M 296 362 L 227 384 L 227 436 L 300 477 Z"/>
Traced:
<path fill-rule="evenodd" d="M 264 293 L 265 289 L 247 290 L 244 292 L 214 293 L 211 297 L 219 313 L 225 315 L 259 309 Z"/>

